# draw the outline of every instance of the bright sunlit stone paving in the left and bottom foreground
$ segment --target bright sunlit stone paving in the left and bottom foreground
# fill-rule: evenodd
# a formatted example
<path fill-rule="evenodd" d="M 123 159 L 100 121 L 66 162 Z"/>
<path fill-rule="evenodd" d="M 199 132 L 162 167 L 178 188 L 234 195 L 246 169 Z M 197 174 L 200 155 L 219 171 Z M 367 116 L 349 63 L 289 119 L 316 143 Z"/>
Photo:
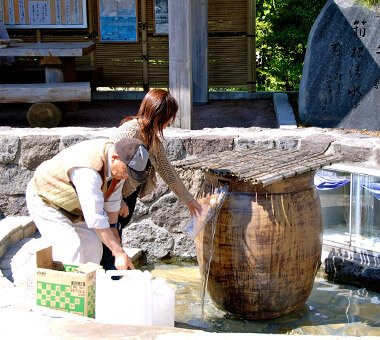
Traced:
<path fill-rule="evenodd" d="M 29 217 L 0 221 L 0 337 L 19 339 L 315 339 L 312 335 L 208 333 L 176 327 L 109 325 L 35 304 L 35 250 L 43 242 Z M 138 252 L 136 252 L 138 257 Z M 13 282 L 12 282 L 13 281 Z M 323 336 L 326 340 L 358 340 L 352 336 Z M 318 336 L 319 339 L 319 336 Z"/>

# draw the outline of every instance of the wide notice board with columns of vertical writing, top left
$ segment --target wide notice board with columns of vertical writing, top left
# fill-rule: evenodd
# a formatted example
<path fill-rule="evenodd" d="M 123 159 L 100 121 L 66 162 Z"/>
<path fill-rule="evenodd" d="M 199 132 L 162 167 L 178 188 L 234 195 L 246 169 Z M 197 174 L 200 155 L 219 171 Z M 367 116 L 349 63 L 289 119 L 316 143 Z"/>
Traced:
<path fill-rule="evenodd" d="M 86 0 L 0 0 L 7 28 L 86 28 Z"/>

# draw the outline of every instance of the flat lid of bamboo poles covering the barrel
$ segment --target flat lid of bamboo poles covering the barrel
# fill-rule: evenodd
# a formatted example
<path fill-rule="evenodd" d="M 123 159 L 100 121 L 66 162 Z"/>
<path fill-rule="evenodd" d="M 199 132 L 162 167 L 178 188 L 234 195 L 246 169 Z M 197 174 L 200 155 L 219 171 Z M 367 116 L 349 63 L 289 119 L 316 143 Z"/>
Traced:
<path fill-rule="evenodd" d="M 183 169 L 201 169 L 226 178 L 263 186 L 339 162 L 334 155 L 307 150 L 250 147 L 173 162 Z"/>

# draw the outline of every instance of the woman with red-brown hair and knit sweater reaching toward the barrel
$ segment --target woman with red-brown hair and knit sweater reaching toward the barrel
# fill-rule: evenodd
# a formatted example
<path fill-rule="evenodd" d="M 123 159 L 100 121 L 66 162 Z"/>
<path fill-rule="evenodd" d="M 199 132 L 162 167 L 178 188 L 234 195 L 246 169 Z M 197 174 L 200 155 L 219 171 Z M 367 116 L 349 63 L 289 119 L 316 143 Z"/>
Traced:
<path fill-rule="evenodd" d="M 121 237 L 122 229 L 129 222 L 136 204 L 137 197 L 144 197 L 154 190 L 156 186 L 155 173 L 157 172 L 168 187 L 184 203 L 191 215 L 201 213 L 200 204 L 189 193 L 176 170 L 170 164 L 163 146 L 163 130 L 175 119 L 178 111 L 176 99 L 162 89 L 149 91 L 139 108 L 136 116 L 125 117 L 118 127 L 118 131 L 112 137 L 114 142 L 123 138 L 137 138 L 141 140 L 149 153 L 147 166 L 147 178 L 143 185 L 130 178 L 125 181 L 123 197 L 126 205 L 120 211 L 117 231 Z M 112 254 L 108 248 L 104 248 L 104 261 L 101 263 L 105 269 L 113 269 Z M 108 260 L 106 260 L 108 258 Z M 108 268 L 108 264 L 111 268 Z"/>

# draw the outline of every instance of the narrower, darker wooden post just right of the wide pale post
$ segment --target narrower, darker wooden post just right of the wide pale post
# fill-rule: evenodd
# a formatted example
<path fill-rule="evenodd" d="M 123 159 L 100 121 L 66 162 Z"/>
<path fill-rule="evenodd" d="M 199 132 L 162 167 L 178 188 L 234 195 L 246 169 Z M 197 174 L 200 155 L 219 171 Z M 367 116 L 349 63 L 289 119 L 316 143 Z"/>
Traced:
<path fill-rule="evenodd" d="M 208 102 L 208 0 L 196 0 L 192 7 L 193 100 Z"/>

